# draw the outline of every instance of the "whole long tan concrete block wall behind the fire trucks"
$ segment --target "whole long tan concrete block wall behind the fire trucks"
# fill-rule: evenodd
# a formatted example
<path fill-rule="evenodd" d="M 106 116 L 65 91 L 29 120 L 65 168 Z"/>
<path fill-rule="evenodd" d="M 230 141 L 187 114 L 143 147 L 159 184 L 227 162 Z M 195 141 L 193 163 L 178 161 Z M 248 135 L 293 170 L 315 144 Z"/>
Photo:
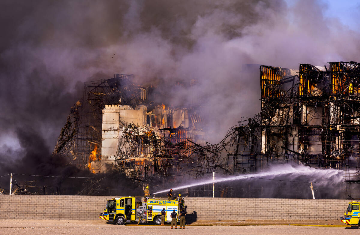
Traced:
<path fill-rule="evenodd" d="M 120 197 L 120 196 L 116 196 Z M 98 220 L 114 196 L 0 195 L 1 219 Z M 185 198 L 194 220 L 337 220 L 350 200 Z"/>

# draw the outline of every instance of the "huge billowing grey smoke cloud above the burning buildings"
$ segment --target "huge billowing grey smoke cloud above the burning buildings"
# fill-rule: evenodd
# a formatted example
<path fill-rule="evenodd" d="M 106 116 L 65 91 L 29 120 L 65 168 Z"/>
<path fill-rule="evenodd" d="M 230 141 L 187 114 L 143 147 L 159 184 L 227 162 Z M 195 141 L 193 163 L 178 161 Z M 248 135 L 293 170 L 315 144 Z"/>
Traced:
<path fill-rule="evenodd" d="M 242 76 L 243 64 L 360 61 L 359 32 L 325 18 L 321 1 L 289 7 L 282 0 L 3 0 L 0 6 L 4 173 L 36 171 L 38 161 L 24 165 L 24 156 L 50 157 L 85 81 L 122 73 L 171 87 L 196 79 L 192 89 L 166 90 L 167 104 L 201 103 L 198 112 L 216 133 L 207 140 L 216 143 L 241 116 L 260 111 L 258 74 Z M 29 146 L 31 133 L 45 150 Z"/>

